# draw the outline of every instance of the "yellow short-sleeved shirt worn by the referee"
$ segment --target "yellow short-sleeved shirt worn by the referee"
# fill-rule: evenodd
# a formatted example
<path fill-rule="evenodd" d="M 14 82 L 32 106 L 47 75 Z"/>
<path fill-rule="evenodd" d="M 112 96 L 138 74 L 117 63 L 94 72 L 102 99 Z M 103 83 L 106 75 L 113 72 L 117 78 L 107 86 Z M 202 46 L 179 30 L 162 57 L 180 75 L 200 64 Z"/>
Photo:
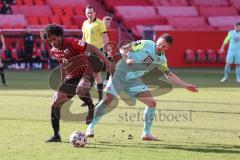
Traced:
<path fill-rule="evenodd" d="M 90 23 L 89 20 L 83 22 L 82 26 L 84 42 L 94 45 L 101 49 L 103 48 L 103 33 L 107 32 L 105 24 L 98 18 Z"/>

